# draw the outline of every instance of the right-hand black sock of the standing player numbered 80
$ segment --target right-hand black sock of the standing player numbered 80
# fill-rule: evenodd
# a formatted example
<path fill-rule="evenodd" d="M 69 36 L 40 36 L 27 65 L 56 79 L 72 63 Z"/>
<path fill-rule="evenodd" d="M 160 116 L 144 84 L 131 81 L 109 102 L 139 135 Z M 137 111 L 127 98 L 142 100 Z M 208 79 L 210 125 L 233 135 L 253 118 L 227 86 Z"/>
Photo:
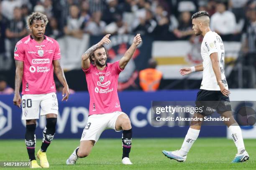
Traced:
<path fill-rule="evenodd" d="M 46 152 L 48 146 L 50 145 L 51 141 L 54 138 L 54 134 L 56 131 L 56 123 L 57 123 L 56 117 L 51 117 L 46 119 L 46 127 L 44 128 L 44 131 L 43 131 L 43 142 L 41 145 L 42 152 Z"/>

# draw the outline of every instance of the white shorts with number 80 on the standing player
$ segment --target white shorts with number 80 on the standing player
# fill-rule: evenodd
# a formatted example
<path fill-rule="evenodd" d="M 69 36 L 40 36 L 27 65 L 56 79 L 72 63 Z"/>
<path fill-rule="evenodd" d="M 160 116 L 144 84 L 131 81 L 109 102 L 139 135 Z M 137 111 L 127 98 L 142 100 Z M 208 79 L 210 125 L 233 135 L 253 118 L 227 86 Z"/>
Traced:
<path fill-rule="evenodd" d="M 22 120 L 39 119 L 40 115 L 54 113 L 58 115 L 58 100 L 55 92 L 42 95 L 22 95 Z"/>

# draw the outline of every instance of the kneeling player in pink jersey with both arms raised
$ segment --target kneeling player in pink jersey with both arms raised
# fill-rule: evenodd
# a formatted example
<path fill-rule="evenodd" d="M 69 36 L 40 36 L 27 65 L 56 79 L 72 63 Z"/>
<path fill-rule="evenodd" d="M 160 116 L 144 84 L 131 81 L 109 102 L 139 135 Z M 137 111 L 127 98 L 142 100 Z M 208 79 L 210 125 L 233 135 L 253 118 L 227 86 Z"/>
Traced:
<path fill-rule="evenodd" d="M 110 44 L 110 34 L 90 47 L 82 55 L 82 70 L 85 73 L 90 94 L 89 117 L 82 133 L 80 146 L 67 159 L 67 164 L 75 164 L 78 158 L 87 157 L 92 147 L 106 129 L 123 130 L 123 164 L 132 164 L 129 159 L 131 151 L 132 127 L 131 121 L 120 107 L 118 99 L 118 76 L 125 68 L 136 47 L 141 43 L 137 34 L 131 47 L 125 52 L 120 61 L 106 63 L 108 53 L 104 44 Z"/>

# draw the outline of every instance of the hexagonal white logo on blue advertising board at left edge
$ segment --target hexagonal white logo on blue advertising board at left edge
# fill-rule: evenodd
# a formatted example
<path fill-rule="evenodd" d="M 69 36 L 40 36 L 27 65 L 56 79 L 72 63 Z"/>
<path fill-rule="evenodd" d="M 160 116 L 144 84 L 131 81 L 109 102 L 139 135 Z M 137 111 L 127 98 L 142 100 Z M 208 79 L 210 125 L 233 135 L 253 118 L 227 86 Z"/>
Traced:
<path fill-rule="evenodd" d="M 0 101 L 0 136 L 12 128 L 12 109 Z"/>

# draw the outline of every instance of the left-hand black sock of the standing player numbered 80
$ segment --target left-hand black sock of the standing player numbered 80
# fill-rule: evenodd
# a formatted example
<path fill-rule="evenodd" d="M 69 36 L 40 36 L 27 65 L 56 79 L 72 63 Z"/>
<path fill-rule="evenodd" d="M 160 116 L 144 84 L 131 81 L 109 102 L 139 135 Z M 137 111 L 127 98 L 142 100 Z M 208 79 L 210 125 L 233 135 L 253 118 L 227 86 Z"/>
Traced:
<path fill-rule="evenodd" d="M 36 160 L 35 147 L 36 147 L 36 124 L 26 125 L 25 143 L 28 150 L 28 157 L 31 160 Z"/>

